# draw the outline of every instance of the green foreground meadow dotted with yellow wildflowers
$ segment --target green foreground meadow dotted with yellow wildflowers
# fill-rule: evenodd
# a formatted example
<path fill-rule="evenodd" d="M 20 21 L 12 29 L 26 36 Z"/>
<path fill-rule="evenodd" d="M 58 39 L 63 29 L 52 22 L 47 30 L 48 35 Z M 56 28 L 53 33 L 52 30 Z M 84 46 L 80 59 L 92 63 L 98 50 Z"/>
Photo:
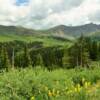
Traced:
<path fill-rule="evenodd" d="M 0 100 L 100 100 L 100 68 L 0 73 Z"/>

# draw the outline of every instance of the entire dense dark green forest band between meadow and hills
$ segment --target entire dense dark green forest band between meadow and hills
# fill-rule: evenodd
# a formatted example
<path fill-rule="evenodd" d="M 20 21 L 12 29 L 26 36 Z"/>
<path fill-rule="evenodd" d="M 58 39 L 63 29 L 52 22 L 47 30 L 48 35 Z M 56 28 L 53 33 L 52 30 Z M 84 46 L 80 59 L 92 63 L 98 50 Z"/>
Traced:
<path fill-rule="evenodd" d="M 100 43 L 81 36 L 70 47 L 47 46 L 42 42 L 12 41 L 0 43 L 0 69 L 45 66 L 55 68 L 90 68 L 100 60 Z"/>

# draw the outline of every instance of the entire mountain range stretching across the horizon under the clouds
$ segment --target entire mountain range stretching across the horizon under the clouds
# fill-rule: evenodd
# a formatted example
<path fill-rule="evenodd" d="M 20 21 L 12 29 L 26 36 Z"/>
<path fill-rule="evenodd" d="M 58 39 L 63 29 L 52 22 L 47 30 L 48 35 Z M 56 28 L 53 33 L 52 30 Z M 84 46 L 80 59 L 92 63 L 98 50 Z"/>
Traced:
<path fill-rule="evenodd" d="M 81 26 L 59 25 L 45 30 L 35 30 L 17 26 L 0 25 L 0 34 L 45 35 L 62 38 L 75 38 L 79 37 L 81 34 L 85 36 L 98 36 L 100 34 L 100 25 L 93 23 Z"/>

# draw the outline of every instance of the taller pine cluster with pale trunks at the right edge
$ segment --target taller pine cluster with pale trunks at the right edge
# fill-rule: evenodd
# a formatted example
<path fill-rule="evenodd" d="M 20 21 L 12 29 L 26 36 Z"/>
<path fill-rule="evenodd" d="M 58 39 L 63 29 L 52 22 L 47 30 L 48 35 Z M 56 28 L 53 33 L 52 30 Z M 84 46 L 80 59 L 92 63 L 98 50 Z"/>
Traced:
<path fill-rule="evenodd" d="M 89 37 L 81 36 L 69 48 L 69 63 L 72 67 L 91 67 L 92 61 L 100 60 L 100 43 Z"/>

